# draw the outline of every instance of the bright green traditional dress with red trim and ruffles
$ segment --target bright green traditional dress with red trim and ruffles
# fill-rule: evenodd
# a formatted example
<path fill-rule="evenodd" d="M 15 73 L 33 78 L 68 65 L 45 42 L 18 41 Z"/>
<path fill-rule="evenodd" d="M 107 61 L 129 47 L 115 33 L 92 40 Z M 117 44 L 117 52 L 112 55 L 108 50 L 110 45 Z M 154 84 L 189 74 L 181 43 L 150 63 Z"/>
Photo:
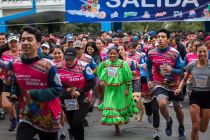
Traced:
<path fill-rule="evenodd" d="M 106 84 L 104 101 L 99 105 L 102 111 L 102 125 L 126 124 L 138 109 L 132 97 L 132 72 L 127 62 L 117 59 L 115 62 L 102 62 L 97 74 Z M 126 96 L 126 86 L 130 86 Z"/>

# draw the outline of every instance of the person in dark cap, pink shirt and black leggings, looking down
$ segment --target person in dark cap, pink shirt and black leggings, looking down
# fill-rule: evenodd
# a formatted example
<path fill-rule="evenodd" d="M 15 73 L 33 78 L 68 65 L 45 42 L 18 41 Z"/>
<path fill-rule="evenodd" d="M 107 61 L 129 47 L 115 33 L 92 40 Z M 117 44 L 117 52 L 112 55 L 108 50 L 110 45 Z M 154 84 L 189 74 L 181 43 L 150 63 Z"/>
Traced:
<path fill-rule="evenodd" d="M 90 66 L 77 59 L 76 50 L 67 48 L 65 65 L 58 69 L 64 86 L 62 105 L 75 140 L 84 140 L 83 120 L 89 109 L 87 92 L 95 85 Z"/>

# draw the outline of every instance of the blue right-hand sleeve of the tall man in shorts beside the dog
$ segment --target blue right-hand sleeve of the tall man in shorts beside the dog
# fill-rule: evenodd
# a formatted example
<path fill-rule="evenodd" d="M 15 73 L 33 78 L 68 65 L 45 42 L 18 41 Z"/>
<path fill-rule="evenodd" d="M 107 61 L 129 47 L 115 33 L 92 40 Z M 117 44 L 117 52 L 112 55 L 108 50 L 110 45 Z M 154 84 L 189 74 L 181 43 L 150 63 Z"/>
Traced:
<path fill-rule="evenodd" d="M 183 73 L 183 67 L 184 67 L 184 63 L 181 59 L 180 54 L 178 54 L 178 56 L 176 58 L 176 66 L 175 66 L 175 68 L 172 68 L 171 72 L 173 74 L 181 75 Z"/>

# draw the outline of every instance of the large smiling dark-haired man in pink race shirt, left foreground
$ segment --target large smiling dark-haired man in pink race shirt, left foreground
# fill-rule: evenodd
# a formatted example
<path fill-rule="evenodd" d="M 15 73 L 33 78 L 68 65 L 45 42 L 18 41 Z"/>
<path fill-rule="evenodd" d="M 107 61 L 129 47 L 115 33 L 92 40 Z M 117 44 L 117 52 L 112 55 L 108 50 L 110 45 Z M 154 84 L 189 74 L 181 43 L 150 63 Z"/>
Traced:
<path fill-rule="evenodd" d="M 54 64 L 39 58 L 41 33 L 34 27 L 24 26 L 21 30 L 22 54 L 14 62 L 3 63 L 0 67 L 13 69 L 16 90 L 12 98 L 20 100 L 20 123 L 16 140 L 33 140 L 38 134 L 40 140 L 58 140 L 62 91 L 60 78 Z M 17 89 L 19 89 L 17 91 Z"/>

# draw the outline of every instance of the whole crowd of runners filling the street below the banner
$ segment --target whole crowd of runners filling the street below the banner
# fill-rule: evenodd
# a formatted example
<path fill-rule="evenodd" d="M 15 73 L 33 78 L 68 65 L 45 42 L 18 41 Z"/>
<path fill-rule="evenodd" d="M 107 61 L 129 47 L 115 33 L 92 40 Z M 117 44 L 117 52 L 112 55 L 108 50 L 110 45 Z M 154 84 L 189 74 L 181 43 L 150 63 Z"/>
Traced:
<path fill-rule="evenodd" d="M 186 131 L 182 102 L 189 97 L 191 140 L 199 140 L 210 118 L 210 35 L 204 31 L 42 34 L 24 26 L 0 33 L 0 120 L 10 117 L 16 140 L 84 140 L 86 115 L 98 108 L 101 124 L 120 125 L 138 112 L 132 93 L 141 93 L 151 137 Z M 171 116 L 171 103 L 176 116 Z M 58 132 L 60 135 L 58 136 Z"/>

